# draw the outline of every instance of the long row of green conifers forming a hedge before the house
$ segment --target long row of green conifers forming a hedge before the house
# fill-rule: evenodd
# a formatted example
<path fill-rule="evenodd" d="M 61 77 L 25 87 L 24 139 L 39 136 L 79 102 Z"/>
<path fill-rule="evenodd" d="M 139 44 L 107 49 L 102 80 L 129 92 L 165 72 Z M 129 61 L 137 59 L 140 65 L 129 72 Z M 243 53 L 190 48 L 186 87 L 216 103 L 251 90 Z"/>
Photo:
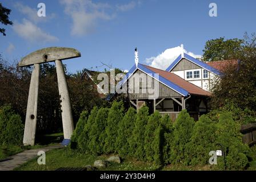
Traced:
<path fill-rule="evenodd" d="M 229 112 L 213 111 L 195 122 L 182 110 L 172 122 L 158 111 L 149 116 L 147 106 L 138 113 L 130 107 L 124 115 L 123 102 L 115 101 L 110 109 L 94 107 L 86 118 L 86 112 L 81 114 L 72 137 L 78 139 L 81 152 L 118 153 L 159 165 L 203 166 L 209 164 L 209 152 L 218 150 L 221 143 L 226 159 L 218 156 L 213 168 L 237 170 L 248 164 L 249 147 L 242 143 L 241 126 Z"/>

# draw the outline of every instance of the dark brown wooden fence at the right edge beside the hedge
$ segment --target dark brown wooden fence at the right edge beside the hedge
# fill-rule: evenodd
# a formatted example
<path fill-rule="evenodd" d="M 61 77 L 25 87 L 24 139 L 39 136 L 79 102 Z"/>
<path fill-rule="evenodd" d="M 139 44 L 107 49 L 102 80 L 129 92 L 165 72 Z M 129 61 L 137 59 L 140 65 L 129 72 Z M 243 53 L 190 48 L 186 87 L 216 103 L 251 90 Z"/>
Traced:
<path fill-rule="evenodd" d="M 256 143 L 256 123 L 242 125 L 241 133 L 243 134 L 243 143 L 247 143 L 249 146 Z"/>

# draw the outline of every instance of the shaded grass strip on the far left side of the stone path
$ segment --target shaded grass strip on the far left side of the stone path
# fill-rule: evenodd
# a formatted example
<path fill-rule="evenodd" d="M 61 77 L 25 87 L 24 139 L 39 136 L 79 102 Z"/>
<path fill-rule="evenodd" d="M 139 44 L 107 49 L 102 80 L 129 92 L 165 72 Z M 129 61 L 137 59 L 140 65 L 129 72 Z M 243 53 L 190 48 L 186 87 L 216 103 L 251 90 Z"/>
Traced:
<path fill-rule="evenodd" d="M 41 148 L 62 142 L 63 133 L 54 133 L 46 135 L 38 135 L 36 137 L 35 146 L 0 146 L 0 160 L 6 159 L 10 155 L 30 150 L 33 148 Z"/>

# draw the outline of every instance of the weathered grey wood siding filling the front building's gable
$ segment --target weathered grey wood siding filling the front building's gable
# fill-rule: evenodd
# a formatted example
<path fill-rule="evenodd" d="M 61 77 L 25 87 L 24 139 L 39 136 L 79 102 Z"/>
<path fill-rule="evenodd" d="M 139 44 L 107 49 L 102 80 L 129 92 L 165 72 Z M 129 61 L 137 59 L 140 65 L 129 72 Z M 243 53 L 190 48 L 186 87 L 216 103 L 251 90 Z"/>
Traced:
<path fill-rule="evenodd" d="M 138 74 L 135 74 L 138 73 Z M 153 94 L 150 94 L 150 91 L 148 90 L 148 88 L 140 88 L 139 89 L 139 93 L 135 92 L 135 84 L 137 84 L 137 86 L 139 86 L 139 84 L 141 83 L 142 85 L 145 84 L 145 82 L 143 82 L 143 80 L 140 79 L 140 77 L 142 75 L 144 75 L 146 77 L 146 84 L 148 82 L 151 82 L 151 88 L 154 89 L 154 82 L 157 81 L 154 78 L 150 77 L 149 75 L 146 75 L 146 73 L 137 70 L 134 73 L 133 76 L 131 76 L 129 78 L 129 98 L 130 99 L 147 99 L 149 98 L 149 96 L 153 96 Z M 142 75 L 141 75 L 142 74 Z M 132 81 L 133 80 L 133 81 Z M 131 83 L 133 82 L 133 86 L 131 86 Z M 143 83 L 142 83 L 143 82 Z M 133 89 L 131 89 L 133 88 Z M 179 94 L 178 92 L 175 92 L 174 90 L 170 89 L 169 87 L 167 87 L 166 85 L 163 85 L 161 82 L 158 82 L 158 88 L 154 89 L 155 92 L 158 92 L 158 98 L 163 98 L 163 97 L 181 97 L 181 94 Z"/>

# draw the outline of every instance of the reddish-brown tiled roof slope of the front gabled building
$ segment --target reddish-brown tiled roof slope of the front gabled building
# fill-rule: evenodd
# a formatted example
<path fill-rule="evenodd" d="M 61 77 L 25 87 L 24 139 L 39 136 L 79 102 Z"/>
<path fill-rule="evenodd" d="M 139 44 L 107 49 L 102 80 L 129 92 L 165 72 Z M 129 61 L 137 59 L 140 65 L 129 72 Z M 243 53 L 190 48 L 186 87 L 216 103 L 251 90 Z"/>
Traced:
<path fill-rule="evenodd" d="M 181 88 L 187 90 L 190 94 L 200 95 L 200 96 L 210 96 L 211 93 L 207 92 L 199 88 L 198 86 L 191 84 L 190 82 L 184 80 L 183 78 L 175 75 L 174 73 L 163 71 L 162 69 L 157 69 L 153 67 L 149 67 L 144 65 L 146 68 L 150 69 L 151 71 L 158 73 L 160 76 L 166 78 L 167 80 L 173 82 L 174 84 L 180 86 Z"/>

